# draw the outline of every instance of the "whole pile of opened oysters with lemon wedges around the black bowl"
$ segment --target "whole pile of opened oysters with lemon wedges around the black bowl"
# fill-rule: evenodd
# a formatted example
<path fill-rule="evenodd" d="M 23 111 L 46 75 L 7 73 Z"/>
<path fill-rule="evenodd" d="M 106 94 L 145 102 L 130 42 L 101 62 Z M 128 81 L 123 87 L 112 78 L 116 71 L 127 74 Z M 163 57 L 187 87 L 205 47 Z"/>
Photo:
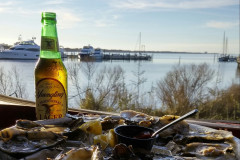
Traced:
<path fill-rule="evenodd" d="M 161 132 L 151 151 L 118 143 L 114 133 L 119 125 L 157 130 L 178 117 L 153 117 L 125 110 L 119 115 L 79 114 L 43 121 L 18 120 L 16 125 L 0 131 L 0 159 L 240 159 L 240 140 L 230 132 L 185 121 Z"/>

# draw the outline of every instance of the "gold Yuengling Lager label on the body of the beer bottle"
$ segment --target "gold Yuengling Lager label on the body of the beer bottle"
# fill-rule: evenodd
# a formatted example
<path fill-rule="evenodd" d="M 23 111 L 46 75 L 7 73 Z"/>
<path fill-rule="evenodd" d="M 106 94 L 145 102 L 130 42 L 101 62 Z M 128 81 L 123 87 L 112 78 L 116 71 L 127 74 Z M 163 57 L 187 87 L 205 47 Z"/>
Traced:
<path fill-rule="evenodd" d="M 36 86 L 37 119 L 62 118 L 67 112 L 67 96 L 63 85 L 56 79 L 46 78 Z"/>

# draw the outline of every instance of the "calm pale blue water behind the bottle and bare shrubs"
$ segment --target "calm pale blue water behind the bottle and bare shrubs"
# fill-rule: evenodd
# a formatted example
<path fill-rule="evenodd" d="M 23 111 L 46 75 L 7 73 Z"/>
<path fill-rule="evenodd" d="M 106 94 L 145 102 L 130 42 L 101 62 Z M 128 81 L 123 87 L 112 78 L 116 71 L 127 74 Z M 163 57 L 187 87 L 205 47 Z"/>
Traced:
<path fill-rule="evenodd" d="M 179 53 L 161 53 L 154 54 L 152 61 L 142 61 L 141 62 L 141 70 L 144 70 L 144 77 L 147 78 L 147 82 L 144 83 L 143 89 L 150 90 L 152 85 L 156 84 L 157 80 L 164 78 L 166 73 L 170 71 L 173 65 L 176 64 L 200 64 L 207 63 L 214 69 L 216 72 L 219 72 L 219 76 L 222 79 L 220 86 L 222 88 L 228 87 L 232 82 L 239 83 L 240 82 L 240 71 L 237 67 L 236 62 L 229 63 L 219 63 L 217 61 L 217 57 L 214 54 L 179 54 Z M 72 63 L 83 63 L 78 60 L 65 59 L 64 64 L 68 67 Z M 24 81 L 27 92 L 28 99 L 35 100 L 34 98 L 34 67 L 36 64 L 36 60 L 0 60 L 0 67 L 4 67 L 4 69 L 8 70 L 12 66 L 16 66 L 18 72 L 20 73 L 20 78 Z M 134 81 L 136 77 L 133 75 L 133 72 L 137 70 L 138 61 L 102 61 L 102 62 L 94 62 L 96 66 L 96 72 L 99 72 L 101 68 L 106 67 L 114 67 L 121 66 L 125 71 L 125 81 L 130 84 L 131 80 Z M 80 71 L 80 81 L 82 85 L 86 84 L 86 78 L 82 71 Z M 135 80 L 136 81 L 136 80 Z M 69 96 L 74 95 L 72 93 L 73 88 L 71 82 L 69 81 Z M 70 101 L 70 107 L 74 106 L 73 101 Z"/>

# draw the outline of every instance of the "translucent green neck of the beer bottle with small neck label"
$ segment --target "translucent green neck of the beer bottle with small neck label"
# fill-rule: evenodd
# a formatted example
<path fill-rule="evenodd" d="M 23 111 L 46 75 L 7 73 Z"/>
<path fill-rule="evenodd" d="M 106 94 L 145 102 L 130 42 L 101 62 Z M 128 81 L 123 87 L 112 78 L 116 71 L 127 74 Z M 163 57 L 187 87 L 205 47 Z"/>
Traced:
<path fill-rule="evenodd" d="M 58 45 L 56 20 L 54 19 L 42 19 L 40 58 L 61 58 Z"/>

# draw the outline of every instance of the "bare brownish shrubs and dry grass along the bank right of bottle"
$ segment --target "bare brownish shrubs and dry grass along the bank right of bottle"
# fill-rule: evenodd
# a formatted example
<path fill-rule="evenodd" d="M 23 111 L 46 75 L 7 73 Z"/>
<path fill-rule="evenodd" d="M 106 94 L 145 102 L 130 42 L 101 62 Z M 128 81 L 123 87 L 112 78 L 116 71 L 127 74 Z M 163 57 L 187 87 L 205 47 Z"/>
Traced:
<path fill-rule="evenodd" d="M 82 88 L 76 74 L 79 69 L 83 69 L 88 79 L 88 85 Z M 97 74 L 89 62 L 69 68 L 69 73 L 79 93 L 80 108 L 111 112 L 132 109 L 156 116 L 183 115 L 197 108 L 200 112 L 196 118 L 240 120 L 240 86 L 232 84 L 222 90 L 217 86 L 209 88 L 216 75 L 207 64 L 174 66 L 147 92 L 142 91 L 147 78 L 140 63 L 133 73 L 135 79 L 131 87 L 126 87 L 120 66 L 103 68 L 101 74 Z"/>

